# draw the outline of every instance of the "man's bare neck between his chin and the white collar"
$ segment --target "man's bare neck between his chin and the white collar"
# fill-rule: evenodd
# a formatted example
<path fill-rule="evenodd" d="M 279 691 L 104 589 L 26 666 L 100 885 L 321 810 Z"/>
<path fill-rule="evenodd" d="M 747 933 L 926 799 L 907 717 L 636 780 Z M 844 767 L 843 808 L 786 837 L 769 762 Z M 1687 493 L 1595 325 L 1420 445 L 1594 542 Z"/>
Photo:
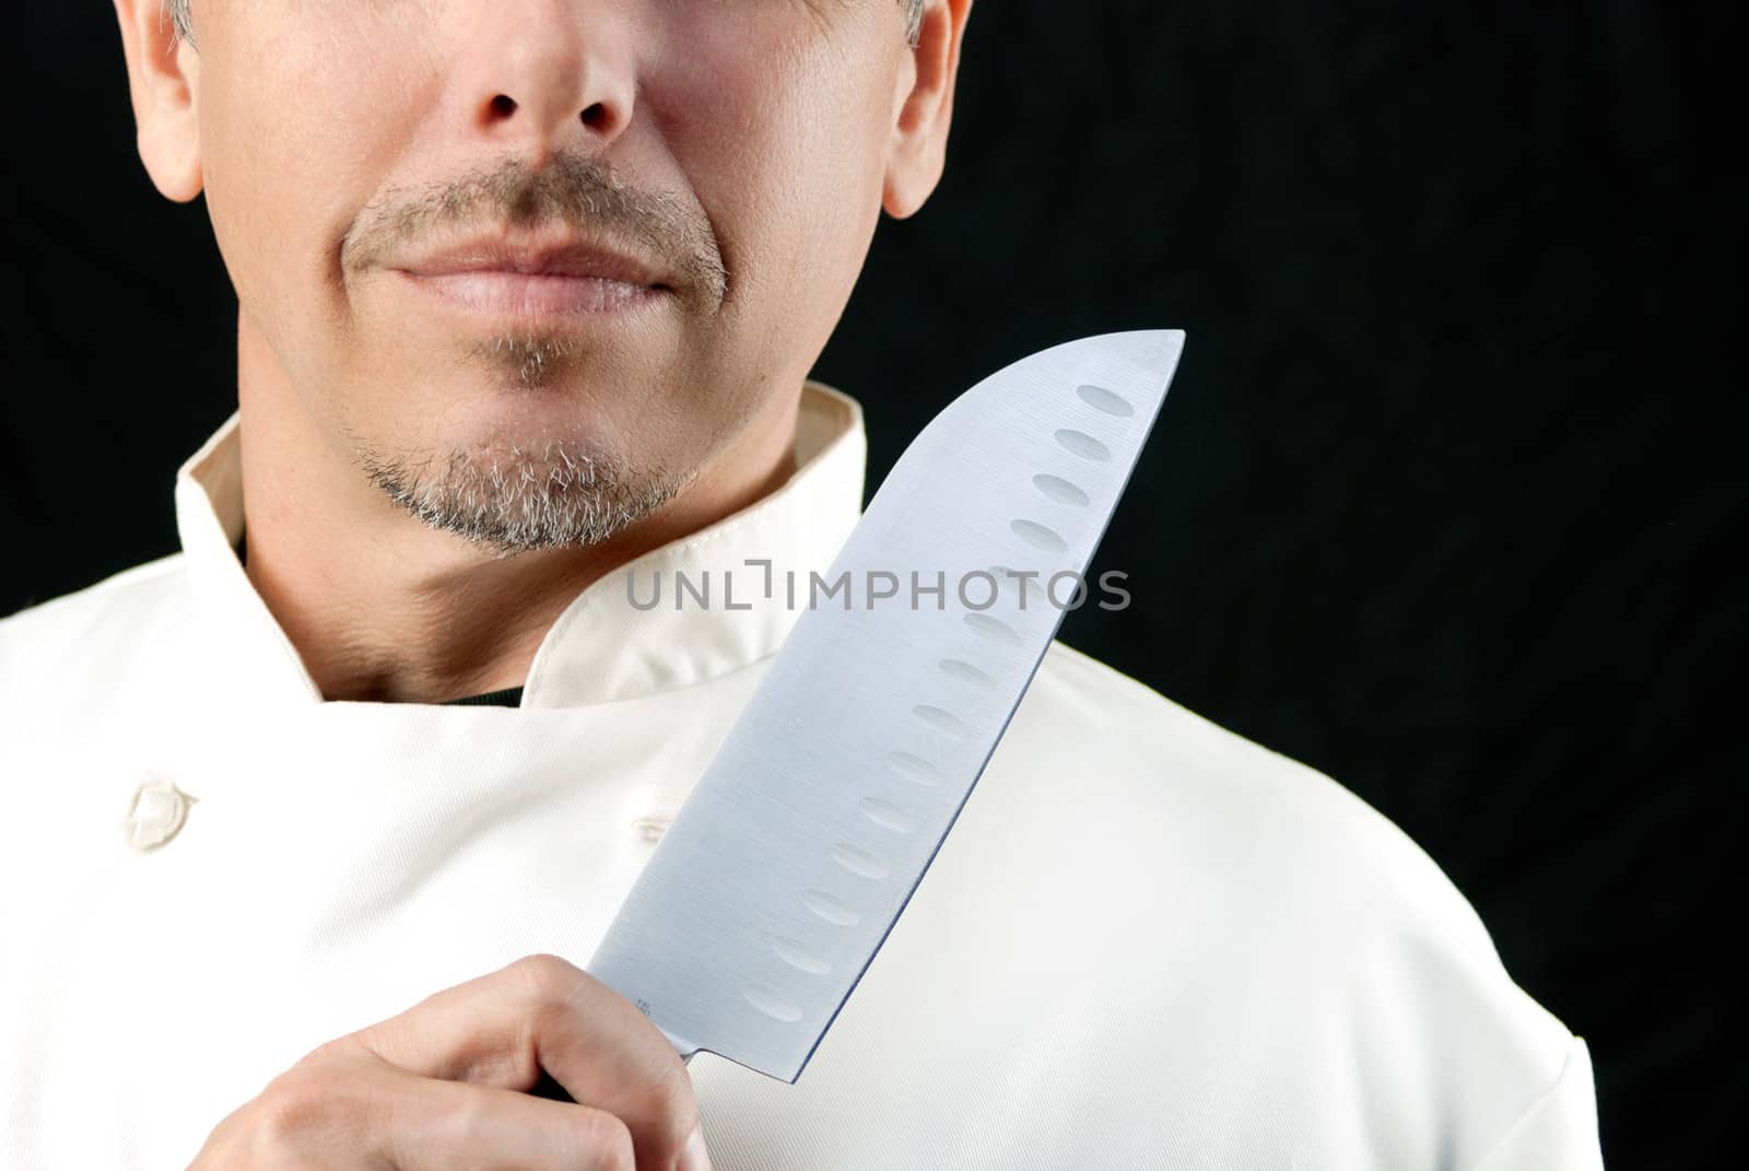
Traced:
<path fill-rule="evenodd" d="M 610 541 L 502 557 L 423 525 L 366 480 L 245 326 L 247 572 L 324 698 L 441 704 L 521 686 L 593 581 L 789 480 L 799 383 L 777 399 L 686 492 Z"/>

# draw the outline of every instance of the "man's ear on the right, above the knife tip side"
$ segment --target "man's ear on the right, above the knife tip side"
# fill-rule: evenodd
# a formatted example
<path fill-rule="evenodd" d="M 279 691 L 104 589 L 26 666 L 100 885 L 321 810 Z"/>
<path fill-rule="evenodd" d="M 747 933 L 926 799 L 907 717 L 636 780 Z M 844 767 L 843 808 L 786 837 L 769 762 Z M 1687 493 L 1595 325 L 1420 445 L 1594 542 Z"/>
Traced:
<path fill-rule="evenodd" d="M 972 0 L 929 0 L 911 68 L 901 70 L 897 117 L 887 151 L 881 207 L 894 219 L 913 215 L 941 182 L 953 119 L 953 79 L 960 72 L 960 39 Z"/>

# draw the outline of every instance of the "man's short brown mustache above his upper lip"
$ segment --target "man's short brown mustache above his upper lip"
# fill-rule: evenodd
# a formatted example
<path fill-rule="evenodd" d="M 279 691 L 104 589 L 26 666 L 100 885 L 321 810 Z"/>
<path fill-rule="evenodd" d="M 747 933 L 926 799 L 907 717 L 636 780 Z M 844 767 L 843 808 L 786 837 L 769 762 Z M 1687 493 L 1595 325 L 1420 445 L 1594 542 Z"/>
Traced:
<path fill-rule="evenodd" d="M 560 151 L 539 168 L 511 156 L 449 182 L 390 189 L 360 208 L 339 261 L 343 271 L 357 273 L 434 236 L 554 224 L 603 243 L 630 242 L 630 250 L 673 273 L 682 291 L 712 303 L 728 289 L 722 250 L 703 212 L 668 193 L 631 187 L 607 163 L 577 151 Z"/>

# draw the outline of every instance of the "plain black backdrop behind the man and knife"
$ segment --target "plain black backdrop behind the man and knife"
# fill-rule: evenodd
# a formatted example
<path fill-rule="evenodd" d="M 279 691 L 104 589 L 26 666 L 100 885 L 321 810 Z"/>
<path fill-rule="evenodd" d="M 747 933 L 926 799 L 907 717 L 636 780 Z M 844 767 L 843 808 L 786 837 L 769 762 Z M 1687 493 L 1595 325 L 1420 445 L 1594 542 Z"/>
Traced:
<path fill-rule="evenodd" d="M 1065 641 L 1401 824 L 1590 1041 L 1611 1166 L 1709 1164 L 1742 1085 L 1705 1061 L 1740 984 L 1742 144 L 1707 124 L 1739 40 L 1558 7 L 983 0 L 948 177 L 817 373 L 874 485 L 1023 354 L 1189 331 L 1097 565 L 1135 604 Z M 140 170 L 108 5 L 12 25 L 0 614 L 175 550 L 175 466 L 234 406 L 229 284 Z"/>

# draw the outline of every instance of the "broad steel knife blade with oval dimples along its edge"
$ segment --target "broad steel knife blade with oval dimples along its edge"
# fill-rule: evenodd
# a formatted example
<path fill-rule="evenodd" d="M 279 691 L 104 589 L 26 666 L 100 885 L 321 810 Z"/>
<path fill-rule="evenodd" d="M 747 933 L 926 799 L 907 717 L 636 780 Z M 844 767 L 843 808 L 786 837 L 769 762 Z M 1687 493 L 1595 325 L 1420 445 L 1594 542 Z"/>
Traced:
<path fill-rule="evenodd" d="M 1182 347 L 1114 333 L 985 378 L 798 600 L 588 964 L 684 1057 L 801 1076 L 1056 635 Z"/>

